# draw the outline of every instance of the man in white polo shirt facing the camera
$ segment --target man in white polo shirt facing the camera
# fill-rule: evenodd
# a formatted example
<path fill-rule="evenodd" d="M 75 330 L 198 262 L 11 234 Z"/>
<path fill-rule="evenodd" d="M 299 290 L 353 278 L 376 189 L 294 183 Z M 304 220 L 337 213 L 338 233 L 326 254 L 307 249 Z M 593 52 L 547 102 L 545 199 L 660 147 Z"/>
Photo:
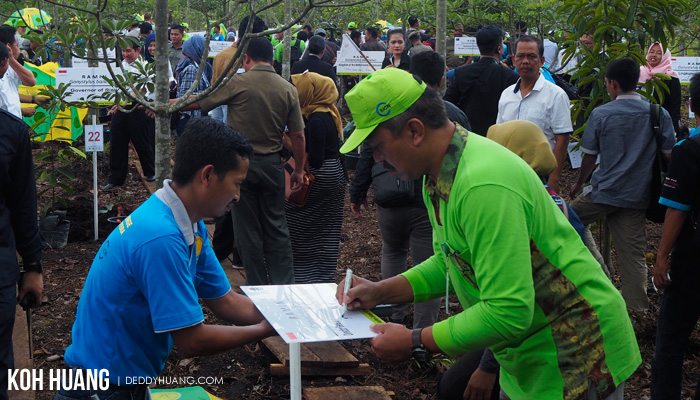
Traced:
<path fill-rule="evenodd" d="M 522 36 L 515 44 L 514 54 L 513 65 L 520 79 L 501 94 L 496 123 L 526 120 L 542 129 L 557 159 L 557 168 L 547 183 L 558 192 L 569 135 L 573 132 L 569 98 L 564 90 L 540 74 L 545 62 L 542 41 Z"/>

